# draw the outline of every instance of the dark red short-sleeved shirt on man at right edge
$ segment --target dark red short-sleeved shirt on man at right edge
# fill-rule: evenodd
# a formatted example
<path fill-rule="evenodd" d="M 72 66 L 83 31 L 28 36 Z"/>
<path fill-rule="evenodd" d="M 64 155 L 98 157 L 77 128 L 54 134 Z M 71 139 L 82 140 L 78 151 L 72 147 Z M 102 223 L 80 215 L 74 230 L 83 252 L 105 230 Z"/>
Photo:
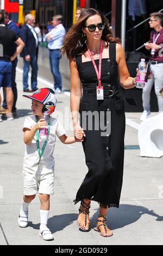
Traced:
<path fill-rule="evenodd" d="M 155 30 L 151 32 L 151 36 L 150 36 L 150 42 L 153 43 L 153 36 L 155 35 L 158 36 L 158 34 L 160 33 L 158 39 L 156 40 L 155 44 L 156 45 L 160 45 L 162 44 L 162 49 L 156 50 L 154 57 L 151 57 L 151 60 L 160 60 L 163 61 L 163 28 L 161 28 L 161 30 L 159 32 L 156 32 Z M 159 53 L 161 54 L 161 56 L 159 56 Z"/>

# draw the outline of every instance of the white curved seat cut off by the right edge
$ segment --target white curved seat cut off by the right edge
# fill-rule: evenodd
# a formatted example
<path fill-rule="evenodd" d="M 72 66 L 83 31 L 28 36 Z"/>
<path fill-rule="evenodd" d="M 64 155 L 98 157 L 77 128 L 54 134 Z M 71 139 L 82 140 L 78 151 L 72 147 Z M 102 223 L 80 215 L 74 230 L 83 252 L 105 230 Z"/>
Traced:
<path fill-rule="evenodd" d="M 143 121 L 138 129 L 140 156 L 163 156 L 163 112 Z"/>

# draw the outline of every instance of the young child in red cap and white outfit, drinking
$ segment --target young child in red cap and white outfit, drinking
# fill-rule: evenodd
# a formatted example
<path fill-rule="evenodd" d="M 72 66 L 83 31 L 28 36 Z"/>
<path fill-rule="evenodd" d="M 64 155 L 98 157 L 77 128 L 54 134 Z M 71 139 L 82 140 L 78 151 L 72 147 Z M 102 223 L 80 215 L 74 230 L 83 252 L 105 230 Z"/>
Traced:
<path fill-rule="evenodd" d="M 44 240 L 53 240 L 51 231 L 47 228 L 49 215 L 50 194 L 54 193 L 54 157 L 53 151 L 57 135 L 62 143 L 71 144 L 83 141 L 82 133 L 76 133 L 74 137 L 66 136 L 65 130 L 59 121 L 50 114 L 53 113 L 57 99 L 52 89 L 42 88 L 36 90 L 31 96 L 23 95 L 32 99 L 31 117 L 24 121 L 24 143 L 26 151 L 23 161 L 23 199 L 18 216 L 18 224 L 21 228 L 28 224 L 28 206 L 39 192 L 40 207 L 40 232 Z M 48 123 L 42 118 L 48 115 Z M 42 134 L 43 131 L 43 134 Z"/>

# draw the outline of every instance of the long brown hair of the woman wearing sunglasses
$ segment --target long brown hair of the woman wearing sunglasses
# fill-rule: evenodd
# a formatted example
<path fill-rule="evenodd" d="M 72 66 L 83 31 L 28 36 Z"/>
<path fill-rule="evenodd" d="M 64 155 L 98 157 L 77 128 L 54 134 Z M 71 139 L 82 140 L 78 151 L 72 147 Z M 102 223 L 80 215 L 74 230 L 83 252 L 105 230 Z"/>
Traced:
<path fill-rule="evenodd" d="M 65 36 L 62 53 L 66 53 L 68 59 L 74 59 L 78 54 L 86 52 L 86 36 L 84 35 L 82 29 L 85 26 L 86 20 L 93 15 L 99 15 L 102 19 L 102 22 L 105 23 L 105 28 L 102 33 L 102 40 L 106 42 L 117 42 L 118 44 L 121 44 L 121 40 L 113 36 L 111 28 L 109 27 L 109 22 L 102 13 L 92 8 L 85 9 L 80 14 L 77 23 L 72 26 L 70 31 L 68 31 Z"/>

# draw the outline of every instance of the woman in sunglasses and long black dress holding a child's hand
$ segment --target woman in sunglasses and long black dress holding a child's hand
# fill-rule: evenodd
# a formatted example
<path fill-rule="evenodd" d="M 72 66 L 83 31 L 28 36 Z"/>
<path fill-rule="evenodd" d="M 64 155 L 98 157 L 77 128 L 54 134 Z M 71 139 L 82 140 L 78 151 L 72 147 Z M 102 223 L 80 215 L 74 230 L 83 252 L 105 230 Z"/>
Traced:
<path fill-rule="evenodd" d="M 104 237 L 112 236 L 106 215 L 110 207 L 118 208 L 120 203 L 125 131 L 124 102 L 118 92 L 117 78 L 125 89 L 135 87 L 136 78 L 129 75 L 120 39 L 113 37 L 108 20 L 95 9 L 83 11 L 67 33 L 62 50 L 70 59 L 74 133 L 80 131 L 84 135 L 83 149 L 89 169 L 74 200 L 75 203 L 81 200 L 78 225 L 84 231 L 89 230 L 90 202 L 95 200 L 100 207 L 94 229 Z M 86 124 L 84 131 L 78 124 L 79 112 L 81 126 Z M 86 117 L 85 112 L 98 114 L 92 118 L 91 129 L 90 115 Z M 97 121 L 99 129 L 95 127 Z M 106 133 L 101 126 L 106 127 Z"/>

